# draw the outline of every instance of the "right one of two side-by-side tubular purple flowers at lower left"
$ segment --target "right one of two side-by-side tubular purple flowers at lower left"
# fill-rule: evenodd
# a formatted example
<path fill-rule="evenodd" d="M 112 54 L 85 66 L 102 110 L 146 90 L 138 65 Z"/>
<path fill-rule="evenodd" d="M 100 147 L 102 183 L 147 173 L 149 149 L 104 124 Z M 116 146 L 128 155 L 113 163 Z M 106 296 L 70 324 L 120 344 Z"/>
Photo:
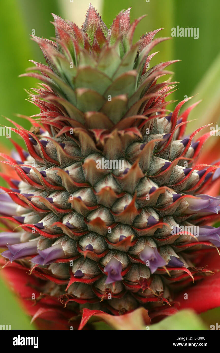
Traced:
<path fill-rule="evenodd" d="M 44 250 L 38 250 L 37 256 L 32 258 L 31 262 L 38 265 L 49 265 L 52 264 L 56 259 L 65 256 L 65 252 L 61 246 L 61 243 L 52 245 Z"/>

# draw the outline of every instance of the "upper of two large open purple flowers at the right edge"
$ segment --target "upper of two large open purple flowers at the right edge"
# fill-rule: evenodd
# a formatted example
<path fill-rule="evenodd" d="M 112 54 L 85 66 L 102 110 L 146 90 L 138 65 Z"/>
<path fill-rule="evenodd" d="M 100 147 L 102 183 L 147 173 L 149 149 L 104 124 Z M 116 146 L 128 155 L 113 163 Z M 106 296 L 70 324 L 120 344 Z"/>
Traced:
<path fill-rule="evenodd" d="M 209 195 L 197 195 L 196 198 L 188 198 L 188 209 L 192 212 L 219 213 L 220 199 Z"/>

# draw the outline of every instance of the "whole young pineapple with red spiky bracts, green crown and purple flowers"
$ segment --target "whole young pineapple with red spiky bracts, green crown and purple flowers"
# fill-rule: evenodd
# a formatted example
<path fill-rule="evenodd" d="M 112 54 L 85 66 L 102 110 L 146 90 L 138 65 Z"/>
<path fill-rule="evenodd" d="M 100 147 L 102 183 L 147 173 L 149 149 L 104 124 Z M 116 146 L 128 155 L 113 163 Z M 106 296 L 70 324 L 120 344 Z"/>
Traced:
<path fill-rule="evenodd" d="M 47 65 L 23 75 L 42 81 L 30 92 L 41 112 L 30 131 L 12 129 L 28 152 L 8 157 L 20 180 L 7 178 L 2 214 L 19 227 L 1 233 L 2 256 L 75 312 L 171 305 L 211 274 L 197 258 L 220 244 L 220 228 L 204 226 L 219 198 L 203 193 L 218 166 L 195 165 L 208 135 L 183 137 L 197 103 L 180 116 L 187 100 L 165 108 L 176 82 L 156 82 L 174 61 L 149 68 L 149 53 L 167 38 L 153 40 L 159 29 L 132 44 L 140 19 L 130 25 L 129 12 L 110 30 L 91 5 L 82 29 L 53 15 L 56 40 L 33 36 Z"/>

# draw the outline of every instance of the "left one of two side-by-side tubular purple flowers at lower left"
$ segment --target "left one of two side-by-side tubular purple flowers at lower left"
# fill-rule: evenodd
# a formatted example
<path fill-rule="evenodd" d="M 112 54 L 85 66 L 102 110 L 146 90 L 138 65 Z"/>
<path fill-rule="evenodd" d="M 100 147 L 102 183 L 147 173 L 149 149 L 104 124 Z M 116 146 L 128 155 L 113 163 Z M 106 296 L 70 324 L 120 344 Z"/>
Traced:
<path fill-rule="evenodd" d="M 3 251 L 1 255 L 11 262 L 30 255 L 35 255 L 37 253 L 37 243 L 38 240 L 31 240 L 26 243 L 7 245 L 8 250 Z"/>

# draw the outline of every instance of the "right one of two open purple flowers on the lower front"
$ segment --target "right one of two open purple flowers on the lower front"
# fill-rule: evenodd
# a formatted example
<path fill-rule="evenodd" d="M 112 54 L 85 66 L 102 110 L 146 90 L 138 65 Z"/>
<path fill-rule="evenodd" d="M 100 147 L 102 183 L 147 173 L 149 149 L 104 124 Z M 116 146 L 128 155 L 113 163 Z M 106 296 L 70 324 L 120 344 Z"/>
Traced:
<path fill-rule="evenodd" d="M 144 249 L 139 253 L 139 258 L 143 262 L 149 261 L 151 273 L 154 273 L 158 267 L 166 265 L 166 261 L 160 256 L 156 247 L 145 245 Z"/>

